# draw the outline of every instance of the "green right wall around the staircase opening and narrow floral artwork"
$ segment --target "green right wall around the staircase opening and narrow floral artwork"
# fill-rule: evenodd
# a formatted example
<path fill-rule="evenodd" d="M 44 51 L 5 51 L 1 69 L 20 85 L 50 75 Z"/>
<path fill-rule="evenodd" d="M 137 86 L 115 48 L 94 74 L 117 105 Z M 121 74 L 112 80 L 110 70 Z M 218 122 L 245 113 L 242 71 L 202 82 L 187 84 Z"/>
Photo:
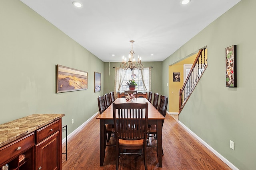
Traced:
<path fill-rule="evenodd" d="M 169 65 L 208 46 L 208 67 L 179 121 L 241 170 L 256 169 L 255 8 L 255 0 L 240 1 L 163 62 L 167 79 Z M 237 88 L 225 82 L 225 48 L 230 45 L 237 45 Z"/>

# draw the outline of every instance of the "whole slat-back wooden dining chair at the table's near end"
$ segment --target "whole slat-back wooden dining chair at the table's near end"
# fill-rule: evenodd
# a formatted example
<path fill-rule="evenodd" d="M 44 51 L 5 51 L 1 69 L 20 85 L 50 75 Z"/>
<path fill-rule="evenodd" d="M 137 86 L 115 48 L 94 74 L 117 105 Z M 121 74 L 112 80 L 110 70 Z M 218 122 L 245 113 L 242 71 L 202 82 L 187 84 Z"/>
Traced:
<path fill-rule="evenodd" d="M 145 114 L 144 114 L 145 113 Z M 114 131 L 116 137 L 116 170 L 119 166 L 120 154 L 144 154 L 144 167 L 147 167 L 146 141 L 148 130 L 148 102 L 113 103 Z M 128 153 L 123 150 L 138 150 L 143 152 Z"/>

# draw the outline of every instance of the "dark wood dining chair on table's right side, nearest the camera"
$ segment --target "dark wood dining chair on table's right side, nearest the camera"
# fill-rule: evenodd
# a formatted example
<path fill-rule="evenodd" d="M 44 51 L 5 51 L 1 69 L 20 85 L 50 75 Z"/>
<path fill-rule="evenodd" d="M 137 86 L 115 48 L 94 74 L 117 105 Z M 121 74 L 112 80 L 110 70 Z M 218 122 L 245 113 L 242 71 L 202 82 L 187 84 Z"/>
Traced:
<path fill-rule="evenodd" d="M 167 106 L 168 106 L 168 97 L 167 96 L 160 96 L 160 103 L 159 103 L 159 109 L 158 111 L 161 113 L 161 115 L 163 115 L 165 117 L 166 115 L 166 110 L 167 110 Z M 164 125 L 164 119 L 162 120 L 162 128 Z M 150 134 L 152 134 L 153 136 L 150 136 Z M 148 132 L 148 139 L 149 137 L 154 137 L 156 139 L 156 135 L 157 135 L 157 131 L 156 131 L 156 125 L 150 125 L 149 127 L 149 132 Z M 149 146 L 152 147 L 152 146 Z M 154 147 L 154 146 L 153 146 Z M 162 155 L 164 155 L 163 152 L 163 147 L 162 147 Z"/>

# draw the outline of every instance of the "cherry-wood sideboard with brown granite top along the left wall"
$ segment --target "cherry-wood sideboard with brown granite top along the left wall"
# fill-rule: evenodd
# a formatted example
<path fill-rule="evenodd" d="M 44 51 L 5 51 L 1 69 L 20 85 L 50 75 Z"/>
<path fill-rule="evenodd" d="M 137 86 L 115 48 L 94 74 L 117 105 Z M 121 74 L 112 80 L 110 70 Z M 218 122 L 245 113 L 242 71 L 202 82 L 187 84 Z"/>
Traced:
<path fill-rule="evenodd" d="M 63 116 L 34 114 L 0 125 L 0 170 L 62 170 Z"/>

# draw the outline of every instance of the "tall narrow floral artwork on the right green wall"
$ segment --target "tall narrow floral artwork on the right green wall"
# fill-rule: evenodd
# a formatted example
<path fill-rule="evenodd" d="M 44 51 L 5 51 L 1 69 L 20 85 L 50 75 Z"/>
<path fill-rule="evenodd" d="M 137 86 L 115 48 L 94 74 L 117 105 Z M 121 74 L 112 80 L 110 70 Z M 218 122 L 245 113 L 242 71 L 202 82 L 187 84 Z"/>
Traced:
<path fill-rule="evenodd" d="M 226 87 L 236 87 L 236 45 L 226 48 Z"/>

